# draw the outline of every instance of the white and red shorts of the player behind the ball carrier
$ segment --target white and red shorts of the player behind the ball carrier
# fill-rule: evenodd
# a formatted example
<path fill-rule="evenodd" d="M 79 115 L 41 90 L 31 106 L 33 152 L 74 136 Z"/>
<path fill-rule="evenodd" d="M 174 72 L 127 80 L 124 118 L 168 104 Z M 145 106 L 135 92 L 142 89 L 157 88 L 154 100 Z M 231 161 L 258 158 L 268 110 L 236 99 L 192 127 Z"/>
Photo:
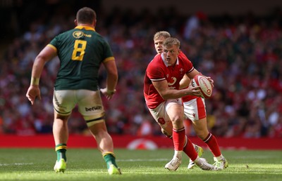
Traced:
<path fill-rule="evenodd" d="M 197 121 L 207 117 L 206 106 L 203 98 L 195 98 L 188 102 L 183 102 L 184 117 L 191 121 Z"/>

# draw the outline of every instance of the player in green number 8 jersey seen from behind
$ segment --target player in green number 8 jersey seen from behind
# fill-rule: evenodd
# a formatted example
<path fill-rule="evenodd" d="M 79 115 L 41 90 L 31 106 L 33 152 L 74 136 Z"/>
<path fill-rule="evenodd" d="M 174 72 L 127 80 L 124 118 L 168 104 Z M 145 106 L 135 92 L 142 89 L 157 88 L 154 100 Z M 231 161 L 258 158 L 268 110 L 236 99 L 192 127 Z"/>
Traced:
<path fill-rule="evenodd" d="M 105 111 L 100 96 L 101 92 L 111 100 L 116 91 L 118 71 L 109 44 L 95 32 L 96 22 L 96 13 L 91 8 L 81 8 L 76 15 L 76 27 L 52 39 L 37 55 L 32 67 L 30 87 L 26 96 L 33 105 L 35 98 L 40 99 L 39 78 L 44 64 L 56 56 L 60 60 L 53 96 L 56 172 L 66 170 L 68 118 L 73 108 L 78 105 L 80 114 L 102 152 L 109 174 L 121 174 L 116 164 L 113 141 L 106 129 Z M 106 88 L 99 89 L 98 71 L 101 64 L 106 69 L 107 77 Z"/>

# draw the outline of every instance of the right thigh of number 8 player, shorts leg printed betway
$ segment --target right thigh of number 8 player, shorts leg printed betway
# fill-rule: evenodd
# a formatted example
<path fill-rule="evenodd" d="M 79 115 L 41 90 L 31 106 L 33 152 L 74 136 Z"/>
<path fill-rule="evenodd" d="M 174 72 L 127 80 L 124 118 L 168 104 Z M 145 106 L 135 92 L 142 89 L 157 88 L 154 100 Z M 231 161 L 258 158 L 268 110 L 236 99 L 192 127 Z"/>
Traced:
<path fill-rule="evenodd" d="M 82 114 L 88 127 L 104 121 L 105 111 L 99 90 L 78 90 L 77 98 L 78 111 Z"/>

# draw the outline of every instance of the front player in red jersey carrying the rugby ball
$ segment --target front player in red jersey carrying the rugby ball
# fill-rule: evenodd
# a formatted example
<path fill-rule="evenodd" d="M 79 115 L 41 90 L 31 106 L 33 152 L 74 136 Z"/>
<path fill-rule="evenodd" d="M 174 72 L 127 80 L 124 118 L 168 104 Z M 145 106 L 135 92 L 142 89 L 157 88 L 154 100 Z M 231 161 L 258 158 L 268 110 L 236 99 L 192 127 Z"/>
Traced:
<path fill-rule="evenodd" d="M 163 52 L 156 55 L 146 69 L 144 79 L 144 95 L 146 105 L 154 119 L 164 130 L 172 126 L 172 139 L 174 156 L 165 168 L 177 170 L 181 164 L 183 147 L 189 152 L 190 159 L 203 170 L 215 170 L 215 167 L 198 156 L 192 142 L 185 139 L 183 124 L 184 109 L 181 99 L 185 95 L 200 96 L 200 88 L 188 86 L 180 89 L 180 80 L 187 74 L 192 79 L 200 74 L 192 65 L 192 62 L 180 52 L 180 41 L 167 38 L 164 41 Z"/>

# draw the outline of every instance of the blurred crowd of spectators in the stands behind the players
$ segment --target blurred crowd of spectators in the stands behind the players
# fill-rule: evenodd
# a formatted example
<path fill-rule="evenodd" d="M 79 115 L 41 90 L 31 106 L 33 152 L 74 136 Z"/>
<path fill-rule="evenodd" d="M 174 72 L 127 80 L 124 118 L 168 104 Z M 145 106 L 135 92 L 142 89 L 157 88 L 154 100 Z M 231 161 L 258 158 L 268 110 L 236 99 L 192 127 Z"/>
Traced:
<path fill-rule="evenodd" d="M 60 7 L 61 8 L 61 7 Z M 257 17 L 183 16 L 174 8 L 155 12 L 97 13 L 99 34 L 114 52 L 119 81 L 114 98 L 107 101 L 106 123 L 111 134 L 161 135 L 143 97 L 143 78 L 154 51 L 153 36 L 166 30 L 181 42 L 181 50 L 202 74 L 214 79 L 213 97 L 206 100 L 209 130 L 220 137 L 282 138 L 282 29 L 281 11 Z M 37 15 L 27 31 L 6 45 L 0 69 L 0 134 L 51 133 L 52 94 L 58 58 L 47 63 L 39 86 L 41 100 L 31 105 L 25 97 L 32 63 L 57 34 L 74 27 L 69 9 Z M 101 69 L 100 84 L 106 74 Z M 189 135 L 195 133 L 185 121 Z M 87 134 L 77 109 L 69 131 Z"/>

